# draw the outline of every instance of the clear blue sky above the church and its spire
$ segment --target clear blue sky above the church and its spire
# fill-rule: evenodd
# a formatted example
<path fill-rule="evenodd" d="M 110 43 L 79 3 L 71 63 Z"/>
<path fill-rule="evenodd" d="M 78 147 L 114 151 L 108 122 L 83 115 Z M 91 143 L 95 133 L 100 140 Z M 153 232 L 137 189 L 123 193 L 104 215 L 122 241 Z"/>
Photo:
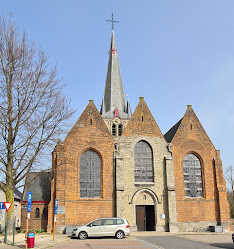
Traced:
<path fill-rule="evenodd" d="M 100 108 L 114 17 L 124 92 L 145 97 L 165 134 L 191 104 L 224 168 L 233 165 L 233 0 L 0 0 L 0 15 L 26 30 L 57 63 L 77 109 Z"/>

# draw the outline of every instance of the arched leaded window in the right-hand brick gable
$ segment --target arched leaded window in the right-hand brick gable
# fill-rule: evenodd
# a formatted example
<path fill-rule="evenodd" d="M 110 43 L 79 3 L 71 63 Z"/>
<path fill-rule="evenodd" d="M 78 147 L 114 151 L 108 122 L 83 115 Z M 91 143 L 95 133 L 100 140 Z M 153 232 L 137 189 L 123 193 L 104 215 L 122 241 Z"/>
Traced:
<path fill-rule="evenodd" d="M 201 163 L 194 154 L 184 157 L 184 190 L 186 197 L 203 197 Z"/>

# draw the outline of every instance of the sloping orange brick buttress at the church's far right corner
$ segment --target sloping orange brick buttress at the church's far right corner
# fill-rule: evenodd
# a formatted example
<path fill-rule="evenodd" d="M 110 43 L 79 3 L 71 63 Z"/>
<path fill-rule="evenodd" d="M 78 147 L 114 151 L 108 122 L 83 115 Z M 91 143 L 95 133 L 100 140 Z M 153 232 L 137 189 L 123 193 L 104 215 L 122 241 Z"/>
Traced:
<path fill-rule="evenodd" d="M 223 231 L 227 232 L 232 230 L 232 225 L 230 221 L 230 207 L 227 200 L 226 182 L 223 177 L 223 166 L 219 150 L 216 150 L 215 173 L 218 190 L 220 222 L 223 227 Z"/>

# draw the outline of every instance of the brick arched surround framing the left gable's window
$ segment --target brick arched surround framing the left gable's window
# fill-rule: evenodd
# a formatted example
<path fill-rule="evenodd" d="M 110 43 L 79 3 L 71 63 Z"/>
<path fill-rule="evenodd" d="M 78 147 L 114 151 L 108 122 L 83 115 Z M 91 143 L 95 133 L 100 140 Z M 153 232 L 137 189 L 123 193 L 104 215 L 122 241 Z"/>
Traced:
<path fill-rule="evenodd" d="M 100 196 L 99 197 L 94 197 L 94 196 L 92 196 L 92 197 L 88 197 L 88 196 L 86 196 L 86 197 L 82 197 L 81 196 L 81 181 L 80 181 L 80 174 L 81 174 L 81 157 L 82 157 L 82 155 L 85 153 L 85 152 L 87 152 L 87 151 L 93 151 L 93 152 L 95 152 L 98 156 L 99 156 L 99 158 L 100 158 Z M 103 196 L 102 196 L 102 194 L 103 194 L 103 191 L 102 191 L 102 185 L 103 185 L 103 182 L 102 182 L 102 167 L 103 167 L 103 162 L 102 162 L 102 156 L 101 156 L 101 154 L 99 153 L 99 151 L 97 151 L 96 149 L 94 149 L 94 148 L 86 148 L 85 150 L 83 150 L 81 153 L 80 153 L 80 156 L 79 156 L 79 159 L 78 159 L 78 161 L 79 161 L 79 163 L 78 163 L 78 165 L 79 165 L 79 170 L 78 170 L 78 179 L 79 179 L 79 198 L 80 199 L 102 199 L 103 198 Z"/>

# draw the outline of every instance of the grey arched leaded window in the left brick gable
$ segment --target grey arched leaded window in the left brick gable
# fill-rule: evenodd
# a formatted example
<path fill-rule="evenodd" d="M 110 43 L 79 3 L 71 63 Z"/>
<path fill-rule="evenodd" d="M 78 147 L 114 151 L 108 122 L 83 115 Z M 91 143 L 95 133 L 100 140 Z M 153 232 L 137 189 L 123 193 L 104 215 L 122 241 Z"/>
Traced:
<path fill-rule="evenodd" d="M 93 150 L 85 151 L 80 157 L 80 197 L 101 197 L 101 158 Z"/>

